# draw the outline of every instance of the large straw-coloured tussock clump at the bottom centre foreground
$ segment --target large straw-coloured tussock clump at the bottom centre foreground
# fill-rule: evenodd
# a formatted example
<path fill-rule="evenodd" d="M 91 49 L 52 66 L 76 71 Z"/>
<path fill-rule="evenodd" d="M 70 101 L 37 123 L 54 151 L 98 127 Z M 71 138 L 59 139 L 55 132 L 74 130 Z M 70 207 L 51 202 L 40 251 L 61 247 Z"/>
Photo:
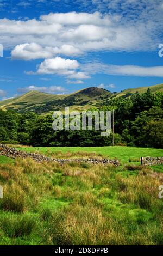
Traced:
<path fill-rule="evenodd" d="M 106 223 L 102 211 L 89 206 L 73 204 L 48 224 L 51 227 L 48 229 L 48 236 L 51 236 L 53 244 L 57 245 L 109 244 L 115 237 L 110 220 Z M 110 228 L 105 229 L 106 225 Z"/>

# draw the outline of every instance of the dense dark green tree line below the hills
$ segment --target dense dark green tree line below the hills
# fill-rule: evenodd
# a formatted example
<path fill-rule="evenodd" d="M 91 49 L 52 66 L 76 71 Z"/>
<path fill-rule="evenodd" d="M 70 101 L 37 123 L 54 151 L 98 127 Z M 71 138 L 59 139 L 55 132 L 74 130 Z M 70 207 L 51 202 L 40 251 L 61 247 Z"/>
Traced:
<path fill-rule="evenodd" d="M 115 145 L 162 148 L 163 146 L 163 93 L 135 93 L 130 97 L 114 97 L 100 108 L 90 111 L 115 113 Z M 102 137 L 101 131 L 54 131 L 53 113 L 38 115 L 34 112 L 18 114 L 12 110 L 0 111 L 1 143 L 20 143 L 44 146 L 104 146 L 112 145 L 112 132 Z"/>

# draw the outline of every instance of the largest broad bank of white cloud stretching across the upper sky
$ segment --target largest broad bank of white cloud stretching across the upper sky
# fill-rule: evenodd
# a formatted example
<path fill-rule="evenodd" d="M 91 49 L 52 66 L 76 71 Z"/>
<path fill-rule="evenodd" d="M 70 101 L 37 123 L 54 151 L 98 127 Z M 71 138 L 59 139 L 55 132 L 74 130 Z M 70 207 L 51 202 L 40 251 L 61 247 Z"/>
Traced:
<path fill-rule="evenodd" d="M 111 5 L 115 1 L 110 1 L 108 13 L 73 11 L 50 13 L 39 19 L 0 19 L 1 43 L 4 48 L 13 48 L 34 42 L 43 47 L 42 51 L 51 52 L 53 49 L 46 47 L 52 47 L 54 52 L 69 55 L 71 51 L 80 54 L 94 50 L 153 50 L 160 41 L 163 28 L 162 9 L 153 0 L 142 1 L 146 3 L 136 5 L 135 1 L 128 0 L 125 5 L 116 1 L 115 6 Z M 130 5 L 134 3 L 135 9 L 127 16 L 125 11 L 129 11 L 129 2 Z"/>

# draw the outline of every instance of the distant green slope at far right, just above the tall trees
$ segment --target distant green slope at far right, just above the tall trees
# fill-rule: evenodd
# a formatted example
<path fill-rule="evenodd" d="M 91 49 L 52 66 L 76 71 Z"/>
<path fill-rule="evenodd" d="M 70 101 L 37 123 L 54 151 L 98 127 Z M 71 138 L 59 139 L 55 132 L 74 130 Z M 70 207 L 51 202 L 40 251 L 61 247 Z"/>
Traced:
<path fill-rule="evenodd" d="M 148 87 L 138 87 L 138 88 L 133 88 L 133 89 L 126 89 L 126 90 L 123 90 L 121 93 L 117 93 L 116 96 L 120 97 L 120 96 L 129 94 L 129 93 L 136 93 L 136 92 L 144 93 L 144 92 L 147 92 L 148 88 L 151 89 L 152 93 L 155 93 L 155 92 L 158 92 L 158 91 L 159 92 L 163 92 L 163 83 L 156 84 L 156 86 L 148 86 Z"/>

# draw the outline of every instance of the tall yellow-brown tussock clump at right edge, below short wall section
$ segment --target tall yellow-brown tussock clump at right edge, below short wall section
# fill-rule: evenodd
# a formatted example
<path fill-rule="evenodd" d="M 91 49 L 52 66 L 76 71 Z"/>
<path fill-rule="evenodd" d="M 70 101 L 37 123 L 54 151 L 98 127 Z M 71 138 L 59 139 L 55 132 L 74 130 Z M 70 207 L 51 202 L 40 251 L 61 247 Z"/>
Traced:
<path fill-rule="evenodd" d="M 161 214 L 163 208 L 162 202 L 158 198 L 159 175 L 154 175 L 149 168 L 143 168 L 138 176 L 134 176 L 132 179 L 119 177 L 118 182 L 120 188 L 118 199 L 122 203 L 132 203 L 139 208 Z"/>

